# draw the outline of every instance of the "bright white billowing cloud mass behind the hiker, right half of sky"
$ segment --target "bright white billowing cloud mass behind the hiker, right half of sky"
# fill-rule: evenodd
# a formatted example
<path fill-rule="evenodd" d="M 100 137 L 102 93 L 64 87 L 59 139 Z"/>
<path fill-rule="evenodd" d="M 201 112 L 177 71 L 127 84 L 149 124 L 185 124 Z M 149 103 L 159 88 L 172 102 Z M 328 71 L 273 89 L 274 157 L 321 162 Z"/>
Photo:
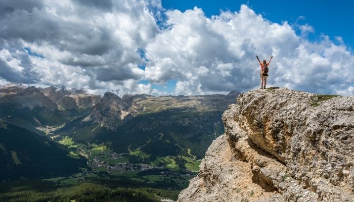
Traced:
<path fill-rule="evenodd" d="M 308 41 L 304 36 L 314 32 L 310 25 L 300 26 L 302 34 L 297 35 L 287 22 L 270 22 L 245 5 L 238 12 L 222 12 L 210 19 L 199 8 L 167 11 L 166 16 L 170 28 L 146 47 L 146 73 L 155 74 L 145 76 L 153 82 L 178 79 L 175 94 L 258 87 L 255 55 L 267 61 L 275 56 L 268 86 L 351 93 L 353 55 L 343 43 L 336 45 L 325 35 Z M 163 60 L 169 65 L 161 68 Z"/>

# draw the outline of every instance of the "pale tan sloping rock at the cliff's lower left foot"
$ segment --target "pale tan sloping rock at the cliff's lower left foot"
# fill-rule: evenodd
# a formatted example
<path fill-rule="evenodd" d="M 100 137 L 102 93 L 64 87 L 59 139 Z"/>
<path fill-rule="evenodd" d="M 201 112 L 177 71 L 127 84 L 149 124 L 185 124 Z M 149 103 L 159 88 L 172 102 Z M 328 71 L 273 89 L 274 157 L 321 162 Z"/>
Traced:
<path fill-rule="evenodd" d="M 284 201 L 279 193 L 267 192 L 252 182 L 251 165 L 234 157 L 226 135 L 208 148 L 200 173 L 183 190 L 178 201 Z"/>

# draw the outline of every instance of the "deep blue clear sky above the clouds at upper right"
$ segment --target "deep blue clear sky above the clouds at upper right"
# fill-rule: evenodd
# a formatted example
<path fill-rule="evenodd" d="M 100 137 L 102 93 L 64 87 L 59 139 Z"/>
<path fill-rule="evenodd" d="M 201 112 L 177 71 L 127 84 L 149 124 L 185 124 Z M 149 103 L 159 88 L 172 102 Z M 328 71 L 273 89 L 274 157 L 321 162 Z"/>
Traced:
<path fill-rule="evenodd" d="M 288 21 L 289 24 L 309 24 L 314 27 L 315 33 L 308 37 L 317 40 L 319 35 L 324 33 L 334 38 L 342 37 L 351 51 L 354 47 L 354 1 L 333 1 L 333 0 L 248 0 L 248 1 L 203 1 L 203 0 L 162 0 L 165 9 L 178 9 L 186 11 L 195 6 L 203 9 L 205 16 L 219 15 L 223 11 L 239 11 L 242 4 L 248 5 L 256 13 L 264 18 L 281 23 Z"/>

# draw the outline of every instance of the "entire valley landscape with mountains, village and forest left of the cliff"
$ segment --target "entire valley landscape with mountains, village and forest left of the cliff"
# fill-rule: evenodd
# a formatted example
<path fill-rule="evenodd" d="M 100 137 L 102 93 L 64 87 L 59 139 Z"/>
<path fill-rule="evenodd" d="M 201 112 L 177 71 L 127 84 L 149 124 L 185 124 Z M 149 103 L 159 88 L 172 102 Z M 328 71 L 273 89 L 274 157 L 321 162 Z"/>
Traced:
<path fill-rule="evenodd" d="M 7 168 L 0 173 L 0 200 L 6 201 L 175 200 L 224 133 L 222 113 L 238 95 L 107 92 L 98 101 L 63 87 L 1 89 L 11 91 L 0 96 L 0 115 L 6 115 L 0 117 L 0 165 Z M 30 107 L 10 105 L 14 91 Z"/>

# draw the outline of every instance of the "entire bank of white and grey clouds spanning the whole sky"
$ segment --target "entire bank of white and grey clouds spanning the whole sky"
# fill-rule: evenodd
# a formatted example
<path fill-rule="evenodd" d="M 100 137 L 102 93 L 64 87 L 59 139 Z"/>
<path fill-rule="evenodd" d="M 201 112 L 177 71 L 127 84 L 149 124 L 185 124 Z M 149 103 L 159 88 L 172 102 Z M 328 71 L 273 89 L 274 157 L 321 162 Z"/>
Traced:
<path fill-rule="evenodd" d="M 340 36 L 309 41 L 314 32 L 246 5 L 207 18 L 200 8 L 165 10 L 160 0 L 5 0 L 0 81 L 100 94 L 227 93 L 258 87 L 255 55 L 273 55 L 268 86 L 353 94 L 353 55 Z M 170 80 L 173 92 L 152 87 Z"/>

